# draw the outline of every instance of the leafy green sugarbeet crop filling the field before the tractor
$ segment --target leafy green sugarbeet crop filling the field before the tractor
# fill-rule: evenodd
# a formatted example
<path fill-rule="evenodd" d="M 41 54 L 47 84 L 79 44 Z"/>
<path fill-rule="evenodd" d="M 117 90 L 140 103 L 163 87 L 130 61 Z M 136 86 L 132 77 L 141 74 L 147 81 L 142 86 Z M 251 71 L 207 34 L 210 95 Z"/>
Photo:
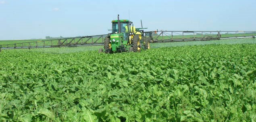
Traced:
<path fill-rule="evenodd" d="M 255 122 L 256 44 L 2 50 L 0 91 L 1 122 Z"/>

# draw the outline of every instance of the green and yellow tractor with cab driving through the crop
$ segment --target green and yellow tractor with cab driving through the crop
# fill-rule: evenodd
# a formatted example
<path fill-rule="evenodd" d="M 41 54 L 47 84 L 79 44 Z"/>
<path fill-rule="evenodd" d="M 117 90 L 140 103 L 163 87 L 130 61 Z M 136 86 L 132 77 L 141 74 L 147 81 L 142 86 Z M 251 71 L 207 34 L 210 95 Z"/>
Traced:
<path fill-rule="evenodd" d="M 150 48 L 150 40 L 144 39 L 144 31 L 135 28 L 133 22 L 129 20 L 112 21 L 112 33 L 108 34 L 104 40 L 104 49 L 99 52 L 113 53 L 113 52 L 140 52 L 142 48 Z"/>

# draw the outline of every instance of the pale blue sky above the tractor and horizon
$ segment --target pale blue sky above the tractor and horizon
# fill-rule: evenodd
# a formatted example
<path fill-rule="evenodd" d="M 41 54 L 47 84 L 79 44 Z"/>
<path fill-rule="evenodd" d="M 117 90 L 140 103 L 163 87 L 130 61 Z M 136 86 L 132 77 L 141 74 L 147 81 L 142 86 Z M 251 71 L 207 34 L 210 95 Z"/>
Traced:
<path fill-rule="evenodd" d="M 0 40 L 107 34 L 117 14 L 148 31 L 256 31 L 256 0 L 117 1 L 0 0 Z"/>

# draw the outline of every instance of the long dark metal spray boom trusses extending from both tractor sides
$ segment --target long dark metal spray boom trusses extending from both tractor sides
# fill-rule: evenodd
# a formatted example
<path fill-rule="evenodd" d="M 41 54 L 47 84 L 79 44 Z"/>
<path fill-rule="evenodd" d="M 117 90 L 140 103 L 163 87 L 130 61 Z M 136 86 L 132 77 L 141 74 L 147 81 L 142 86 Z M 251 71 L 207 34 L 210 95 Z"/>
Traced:
<path fill-rule="evenodd" d="M 54 48 L 70 46 L 100 46 L 104 45 L 107 34 L 95 36 L 81 36 L 75 38 L 59 38 L 50 40 L 38 40 L 0 45 L 0 51 L 4 49 L 24 48 Z M 206 41 L 238 38 L 255 38 L 256 31 L 148 31 L 143 32 L 143 38 L 150 39 L 151 43 L 182 42 L 182 41 Z"/>

